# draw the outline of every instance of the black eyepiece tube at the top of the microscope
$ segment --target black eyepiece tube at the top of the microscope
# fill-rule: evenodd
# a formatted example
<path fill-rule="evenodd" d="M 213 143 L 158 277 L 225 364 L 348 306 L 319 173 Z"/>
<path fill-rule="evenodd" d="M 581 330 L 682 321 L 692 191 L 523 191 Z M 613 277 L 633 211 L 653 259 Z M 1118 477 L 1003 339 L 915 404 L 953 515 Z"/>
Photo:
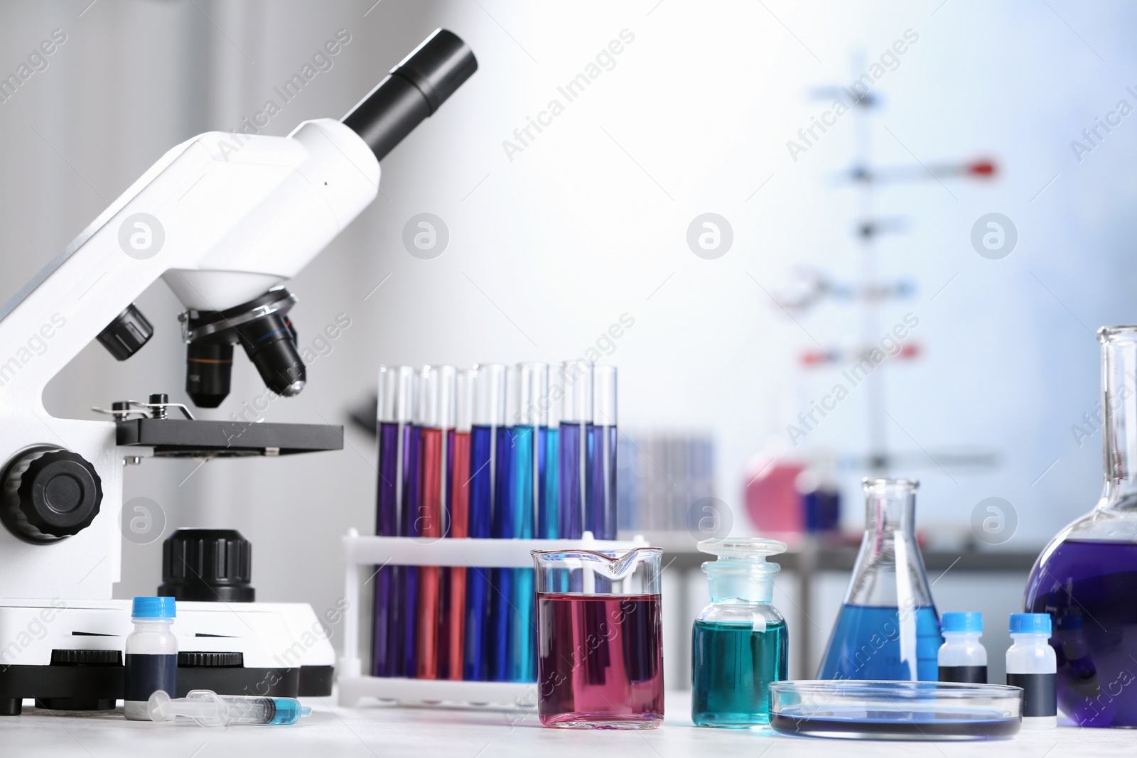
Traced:
<path fill-rule="evenodd" d="M 453 32 L 434 30 L 343 117 L 343 123 L 382 160 L 475 70 L 478 59 L 466 43 Z"/>

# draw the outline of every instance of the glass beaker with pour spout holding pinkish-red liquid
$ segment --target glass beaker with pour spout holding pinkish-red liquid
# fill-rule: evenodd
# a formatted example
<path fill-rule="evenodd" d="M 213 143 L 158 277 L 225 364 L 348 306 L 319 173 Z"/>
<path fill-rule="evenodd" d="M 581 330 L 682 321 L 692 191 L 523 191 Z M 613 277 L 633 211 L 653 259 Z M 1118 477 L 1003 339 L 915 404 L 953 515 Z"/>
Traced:
<path fill-rule="evenodd" d="M 541 723 L 654 728 L 663 722 L 661 548 L 533 550 Z"/>

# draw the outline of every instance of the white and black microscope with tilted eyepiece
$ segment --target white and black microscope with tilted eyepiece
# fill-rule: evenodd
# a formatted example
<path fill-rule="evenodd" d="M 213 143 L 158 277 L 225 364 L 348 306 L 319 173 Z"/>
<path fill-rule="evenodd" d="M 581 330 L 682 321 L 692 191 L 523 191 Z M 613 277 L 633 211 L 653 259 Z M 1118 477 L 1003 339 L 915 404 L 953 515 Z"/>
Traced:
<path fill-rule="evenodd" d="M 48 382 L 91 340 L 127 360 L 153 333 L 133 305 L 161 278 L 184 305 L 185 390 L 216 408 L 240 345 L 283 397 L 305 366 L 282 283 L 379 193 L 379 161 L 478 68 L 437 30 L 342 120 L 289 136 L 207 132 L 169 150 L 0 309 L 0 715 L 98 710 L 123 697 L 130 601 L 119 580 L 123 466 L 150 457 L 342 449 L 342 427 L 196 419 L 156 393 L 106 420 L 55 418 Z M 180 530 L 159 594 L 179 599 L 179 692 L 325 695 L 334 655 L 305 603 L 254 602 L 250 549 Z M 175 694 L 175 693 L 171 693 Z"/>

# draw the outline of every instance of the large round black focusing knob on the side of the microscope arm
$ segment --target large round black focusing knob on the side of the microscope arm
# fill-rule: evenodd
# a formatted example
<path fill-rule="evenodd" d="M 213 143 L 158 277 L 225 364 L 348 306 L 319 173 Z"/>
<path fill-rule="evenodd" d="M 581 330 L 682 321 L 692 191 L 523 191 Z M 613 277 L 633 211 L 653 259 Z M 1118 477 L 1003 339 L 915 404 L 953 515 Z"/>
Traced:
<path fill-rule="evenodd" d="M 5 468 L 0 520 L 27 542 L 57 542 L 90 526 L 101 502 L 94 466 L 68 450 L 38 447 Z"/>

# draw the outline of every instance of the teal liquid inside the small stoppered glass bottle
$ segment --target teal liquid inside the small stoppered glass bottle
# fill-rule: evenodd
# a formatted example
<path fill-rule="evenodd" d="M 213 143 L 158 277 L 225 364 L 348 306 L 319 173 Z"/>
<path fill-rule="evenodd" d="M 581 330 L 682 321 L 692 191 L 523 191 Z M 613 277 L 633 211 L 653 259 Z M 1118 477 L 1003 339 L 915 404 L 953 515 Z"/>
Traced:
<path fill-rule="evenodd" d="M 691 719 L 698 726 L 770 723 L 770 683 L 786 678 L 786 622 L 760 628 L 695 622 Z M 714 661 L 714 663 L 712 663 Z"/>

